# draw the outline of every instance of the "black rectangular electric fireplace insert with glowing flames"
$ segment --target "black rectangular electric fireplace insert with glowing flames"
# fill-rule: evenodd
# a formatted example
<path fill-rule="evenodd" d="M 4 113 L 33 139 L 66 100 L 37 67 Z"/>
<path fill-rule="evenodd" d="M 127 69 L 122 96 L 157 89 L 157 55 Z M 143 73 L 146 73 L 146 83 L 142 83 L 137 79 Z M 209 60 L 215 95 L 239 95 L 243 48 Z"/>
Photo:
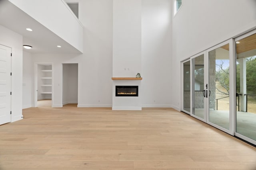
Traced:
<path fill-rule="evenodd" d="M 138 86 L 116 86 L 116 96 L 138 96 Z"/>

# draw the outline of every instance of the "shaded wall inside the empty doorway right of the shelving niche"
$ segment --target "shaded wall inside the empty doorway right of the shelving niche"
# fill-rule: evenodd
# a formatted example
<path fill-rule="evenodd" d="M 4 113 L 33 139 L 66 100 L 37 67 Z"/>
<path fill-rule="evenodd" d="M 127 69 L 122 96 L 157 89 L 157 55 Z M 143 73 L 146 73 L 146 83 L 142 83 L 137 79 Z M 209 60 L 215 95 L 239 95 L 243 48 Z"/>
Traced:
<path fill-rule="evenodd" d="M 78 102 L 78 64 L 63 64 L 62 104 Z"/>

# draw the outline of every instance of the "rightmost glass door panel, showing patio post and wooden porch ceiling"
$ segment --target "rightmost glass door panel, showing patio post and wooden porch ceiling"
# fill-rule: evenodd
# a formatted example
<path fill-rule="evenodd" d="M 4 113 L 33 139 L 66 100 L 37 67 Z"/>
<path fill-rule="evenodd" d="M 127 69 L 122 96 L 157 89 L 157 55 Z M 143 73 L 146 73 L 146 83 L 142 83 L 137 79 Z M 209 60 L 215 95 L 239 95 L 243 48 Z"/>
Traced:
<path fill-rule="evenodd" d="M 239 134 L 237 136 L 254 144 L 256 144 L 255 32 L 236 40 L 236 133 Z"/>

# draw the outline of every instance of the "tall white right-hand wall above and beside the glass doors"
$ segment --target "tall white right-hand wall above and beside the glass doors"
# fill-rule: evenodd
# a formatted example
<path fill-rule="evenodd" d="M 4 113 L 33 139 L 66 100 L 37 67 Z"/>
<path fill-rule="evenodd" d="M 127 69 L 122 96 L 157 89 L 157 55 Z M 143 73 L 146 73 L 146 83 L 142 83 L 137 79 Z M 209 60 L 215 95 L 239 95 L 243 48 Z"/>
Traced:
<path fill-rule="evenodd" d="M 180 61 L 256 26 L 255 0 L 183 0 L 173 18 L 172 105 L 180 109 Z"/>

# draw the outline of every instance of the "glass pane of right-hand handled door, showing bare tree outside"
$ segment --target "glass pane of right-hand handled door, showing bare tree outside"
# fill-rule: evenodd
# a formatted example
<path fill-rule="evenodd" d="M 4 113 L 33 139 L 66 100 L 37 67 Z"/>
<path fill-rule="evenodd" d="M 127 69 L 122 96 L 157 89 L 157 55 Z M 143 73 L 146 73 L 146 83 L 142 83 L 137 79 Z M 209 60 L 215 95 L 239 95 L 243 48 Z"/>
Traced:
<path fill-rule="evenodd" d="M 229 44 L 208 52 L 209 122 L 227 130 L 230 121 L 229 63 Z"/>

